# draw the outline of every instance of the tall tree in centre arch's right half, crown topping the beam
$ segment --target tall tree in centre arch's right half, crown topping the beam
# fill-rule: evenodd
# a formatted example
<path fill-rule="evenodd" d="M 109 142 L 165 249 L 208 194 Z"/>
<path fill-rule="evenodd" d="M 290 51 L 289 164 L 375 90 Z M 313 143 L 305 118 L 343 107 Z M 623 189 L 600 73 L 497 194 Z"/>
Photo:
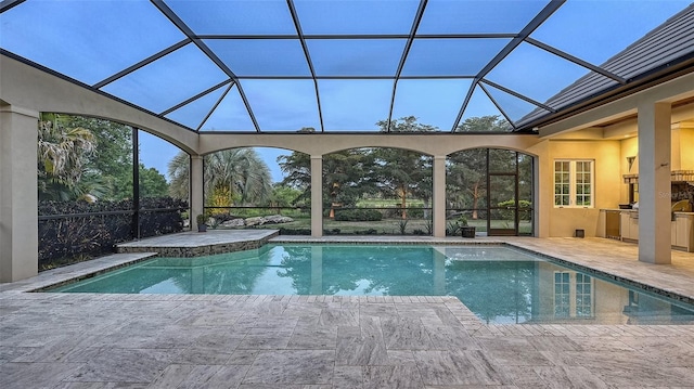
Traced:
<path fill-rule="evenodd" d="M 391 120 L 376 122 L 382 132 L 433 132 L 436 127 L 419 124 L 416 117 L 407 116 Z M 400 199 L 402 219 L 407 219 L 407 197 L 414 195 L 428 199 L 432 197 L 432 157 L 401 148 L 376 148 L 375 173 L 377 185 L 385 196 L 396 196 Z"/>

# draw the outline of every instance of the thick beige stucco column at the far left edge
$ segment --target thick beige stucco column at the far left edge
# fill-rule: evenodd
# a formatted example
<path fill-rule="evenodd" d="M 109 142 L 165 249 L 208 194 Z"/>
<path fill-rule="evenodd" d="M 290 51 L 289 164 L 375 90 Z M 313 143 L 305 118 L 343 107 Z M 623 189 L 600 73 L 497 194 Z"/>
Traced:
<path fill-rule="evenodd" d="M 38 274 L 38 119 L 36 111 L 0 105 L 0 282 Z"/>

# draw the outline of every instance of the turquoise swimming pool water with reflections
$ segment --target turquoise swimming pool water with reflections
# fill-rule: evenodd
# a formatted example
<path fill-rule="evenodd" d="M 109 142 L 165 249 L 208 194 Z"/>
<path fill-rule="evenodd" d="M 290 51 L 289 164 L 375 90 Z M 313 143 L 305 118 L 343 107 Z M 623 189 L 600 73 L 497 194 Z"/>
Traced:
<path fill-rule="evenodd" d="M 271 244 L 156 258 L 51 291 L 455 296 L 488 323 L 694 324 L 694 307 L 506 246 Z"/>

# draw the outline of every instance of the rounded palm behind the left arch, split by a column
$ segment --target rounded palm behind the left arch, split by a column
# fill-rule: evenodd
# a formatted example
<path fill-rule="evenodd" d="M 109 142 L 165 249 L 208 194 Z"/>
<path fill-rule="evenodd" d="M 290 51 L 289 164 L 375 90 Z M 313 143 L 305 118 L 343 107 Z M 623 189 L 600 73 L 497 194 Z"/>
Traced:
<path fill-rule="evenodd" d="M 179 153 L 168 167 L 172 197 L 187 198 L 190 180 L 190 158 Z M 272 195 L 268 166 L 253 148 L 230 148 L 208 154 L 204 158 L 206 203 L 229 207 L 257 205 Z"/>

